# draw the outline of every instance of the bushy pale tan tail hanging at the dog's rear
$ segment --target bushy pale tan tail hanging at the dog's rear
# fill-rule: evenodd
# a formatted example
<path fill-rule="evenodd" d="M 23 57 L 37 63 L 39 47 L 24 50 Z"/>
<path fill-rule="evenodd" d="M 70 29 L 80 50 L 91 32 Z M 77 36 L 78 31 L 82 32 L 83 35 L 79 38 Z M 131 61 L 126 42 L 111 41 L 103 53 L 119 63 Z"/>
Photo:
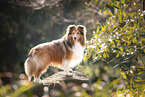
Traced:
<path fill-rule="evenodd" d="M 31 81 L 31 78 L 32 78 L 34 71 L 36 69 L 35 64 L 34 64 L 31 56 L 29 56 L 26 59 L 26 61 L 24 63 L 24 67 L 25 67 L 25 73 L 28 76 L 28 80 Z"/>

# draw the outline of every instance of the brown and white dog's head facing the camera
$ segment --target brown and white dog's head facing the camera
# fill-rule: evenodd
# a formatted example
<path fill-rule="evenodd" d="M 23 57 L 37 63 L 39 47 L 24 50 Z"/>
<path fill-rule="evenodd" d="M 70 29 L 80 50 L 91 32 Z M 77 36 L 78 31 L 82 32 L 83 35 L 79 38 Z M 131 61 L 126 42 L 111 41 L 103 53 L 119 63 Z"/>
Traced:
<path fill-rule="evenodd" d="M 70 47 L 75 42 L 80 42 L 82 46 L 85 46 L 86 41 L 86 28 L 83 25 L 69 25 L 67 28 L 67 39 Z"/>

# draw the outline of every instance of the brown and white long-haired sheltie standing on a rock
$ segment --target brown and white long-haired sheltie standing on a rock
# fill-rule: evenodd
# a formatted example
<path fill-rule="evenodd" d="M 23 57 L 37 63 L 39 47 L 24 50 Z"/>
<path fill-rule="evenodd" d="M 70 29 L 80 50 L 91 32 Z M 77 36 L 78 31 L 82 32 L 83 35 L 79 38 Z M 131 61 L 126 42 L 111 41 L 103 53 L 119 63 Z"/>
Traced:
<path fill-rule="evenodd" d="M 34 82 L 41 82 L 40 76 L 49 66 L 61 68 L 70 75 L 71 68 L 83 59 L 85 42 L 86 28 L 83 25 L 69 25 L 61 39 L 33 47 L 24 63 L 28 80 L 31 81 L 34 76 Z"/>

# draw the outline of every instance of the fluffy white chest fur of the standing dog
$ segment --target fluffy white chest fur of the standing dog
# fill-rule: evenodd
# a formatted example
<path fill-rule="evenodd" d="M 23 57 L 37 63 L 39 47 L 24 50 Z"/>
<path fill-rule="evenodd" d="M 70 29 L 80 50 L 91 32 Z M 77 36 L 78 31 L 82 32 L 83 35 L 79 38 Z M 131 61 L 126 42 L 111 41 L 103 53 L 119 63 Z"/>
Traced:
<path fill-rule="evenodd" d="M 70 49 L 73 52 L 71 60 L 64 60 L 62 65 L 64 69 L 70 69 L 82 62 L 84 57 L 84 49 L 79 42 L 76 42 L 75 45 Z"/>

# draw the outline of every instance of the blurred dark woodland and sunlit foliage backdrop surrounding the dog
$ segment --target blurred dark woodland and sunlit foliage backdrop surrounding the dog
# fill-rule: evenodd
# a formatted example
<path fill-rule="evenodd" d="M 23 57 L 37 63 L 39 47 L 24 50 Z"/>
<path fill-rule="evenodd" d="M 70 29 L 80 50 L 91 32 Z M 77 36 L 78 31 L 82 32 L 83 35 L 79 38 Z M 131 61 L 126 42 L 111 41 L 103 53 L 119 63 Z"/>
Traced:
<path fill-rule="evenodd" d="M 87 44 L 74 70 L 89 78 L 93 95 L 145 96 L 144 10 L 144 0 L 0 0 L 0 95 L 25 86 L 16 82 L 26 79 L 24 61 L 33 46 L 61 38 L 70 24 L 81 24 L 87 28 Z M 42 78 L 55 72 L 50 67 Z M 34 96 L 26 90 L 19 96 Z M 74 91 L 51 96 L 91 97 L 82 88 Z"/>

